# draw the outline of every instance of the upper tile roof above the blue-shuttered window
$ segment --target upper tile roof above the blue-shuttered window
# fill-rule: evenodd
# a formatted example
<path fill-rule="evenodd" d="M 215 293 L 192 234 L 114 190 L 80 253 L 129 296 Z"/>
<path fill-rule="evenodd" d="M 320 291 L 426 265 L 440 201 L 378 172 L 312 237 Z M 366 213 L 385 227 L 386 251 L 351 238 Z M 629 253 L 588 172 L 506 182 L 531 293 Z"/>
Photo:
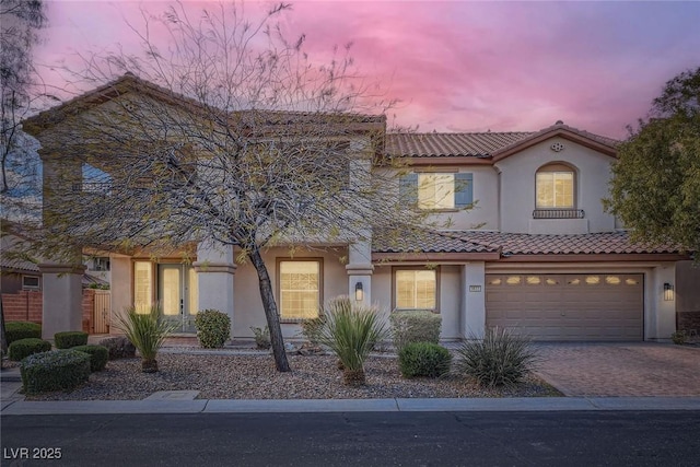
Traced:
<path fill-rule="evenodd" d="M 533 133 L 387 133 L 386 153 L 393 156 L 413 157 L 460 155 L 487 157 L 530 135 Z"/>

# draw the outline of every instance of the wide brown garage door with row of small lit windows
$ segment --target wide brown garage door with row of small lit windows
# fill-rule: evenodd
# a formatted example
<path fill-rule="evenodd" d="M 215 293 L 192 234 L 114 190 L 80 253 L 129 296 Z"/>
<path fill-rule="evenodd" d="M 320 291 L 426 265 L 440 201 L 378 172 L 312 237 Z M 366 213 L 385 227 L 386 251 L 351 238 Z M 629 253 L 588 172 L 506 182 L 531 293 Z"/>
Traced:
<path fill-rule="evenodd" d="M 535 340 L 642 340 L 643 275 L 487 275 L 487 326 Z"/>

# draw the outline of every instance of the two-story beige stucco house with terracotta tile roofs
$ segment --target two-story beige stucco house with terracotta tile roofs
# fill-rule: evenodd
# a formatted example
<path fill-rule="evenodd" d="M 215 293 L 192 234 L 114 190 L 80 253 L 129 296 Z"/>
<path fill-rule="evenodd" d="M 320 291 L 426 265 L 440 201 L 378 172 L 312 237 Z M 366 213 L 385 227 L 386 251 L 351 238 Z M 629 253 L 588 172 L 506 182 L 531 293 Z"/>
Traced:
<path fill-rule="evenodd" d="M 49 167 L 45 186 L 60 183 L 56 174 L 70 166 L 62 151 L 74 144 L 71 126 L 81 115 L 139 93 L 173 101 L 127 74 L 27 120 Z M 562 121 L 536 132 L 386 133 L 381 117 L 363 121 L 352 138 L 349 151 L 371 147 L 381 155 L 374 171 L 393 171 L 383 160 L 405 161 L 407 168 L 394 174 L 396 196 L 450 227 L 400 248 L 377 233 L 372 242 L 324 249 L 267 249 L 285 337 L 341 294 L 385 313 L 440 313 L 444 339 L 478 336 L 487 326 L 541 340 L 656 340 L 676 330 L 676 270 L 688 256 L 673 245 L 632 243 L 604 211 L 615 140 Z M 194 256 L 186 262 L 153 259 L 148 250 L 109 255 L 112 313 L 159 301 L 183 332 L 194 331 L 194 316 L 205 308 L 228 313 L 234 337 L 264 326 L 253 266 L 236 264 L 235 248 L 212 242 L 196 245 Z M 66 311 L 79 303 L 82 269 L 40 266 L 50 297 L 45 334 L 79 328 L 77 314 Z"/>

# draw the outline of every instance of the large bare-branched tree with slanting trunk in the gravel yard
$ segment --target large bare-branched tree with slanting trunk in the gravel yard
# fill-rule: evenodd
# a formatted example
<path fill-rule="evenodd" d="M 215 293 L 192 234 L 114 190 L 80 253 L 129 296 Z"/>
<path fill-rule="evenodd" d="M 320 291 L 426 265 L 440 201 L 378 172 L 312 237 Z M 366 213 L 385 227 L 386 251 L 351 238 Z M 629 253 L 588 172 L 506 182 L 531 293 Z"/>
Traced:
<path fill-rule="evenodd" d="M 143 56 L 85 57 L 93 82 L 128 74 L 26 125 L 50 133 L 45 171 L 63 173 L 45 186 L 47 248 L 67 240 L 118 252 L 235 247 L 257 271 L 278 371 L 290 366 L 264 248 L 380 232 L 400 243 L 428 225 L 396 195 L 385 117 L 366 115 L 371 96 L 351 58 L 343 50 L 314 66 L 304 36 L 289 42 L 272 24 L 287 10 L 278 4 L 258 23 L 241 4 L 197 19 L 182 4 L 144 14 L 144 28 L 133 28 Z M 167 32 L 166 49 L 154 27 Z"/>

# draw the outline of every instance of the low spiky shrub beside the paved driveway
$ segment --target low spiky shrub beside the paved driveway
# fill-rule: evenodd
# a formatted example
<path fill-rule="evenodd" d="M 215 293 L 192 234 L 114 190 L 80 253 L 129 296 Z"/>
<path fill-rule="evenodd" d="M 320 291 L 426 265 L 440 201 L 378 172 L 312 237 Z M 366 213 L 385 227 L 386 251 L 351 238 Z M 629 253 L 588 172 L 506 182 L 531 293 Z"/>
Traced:
<path fill-rule="evenodd" d="M 483 339 L 471 337 L 457 350 L 456 373 L 480 386 L 513 386 L 533 371 L 537 352 L 529 339 L 506 329 L 487 329 Z"/>

